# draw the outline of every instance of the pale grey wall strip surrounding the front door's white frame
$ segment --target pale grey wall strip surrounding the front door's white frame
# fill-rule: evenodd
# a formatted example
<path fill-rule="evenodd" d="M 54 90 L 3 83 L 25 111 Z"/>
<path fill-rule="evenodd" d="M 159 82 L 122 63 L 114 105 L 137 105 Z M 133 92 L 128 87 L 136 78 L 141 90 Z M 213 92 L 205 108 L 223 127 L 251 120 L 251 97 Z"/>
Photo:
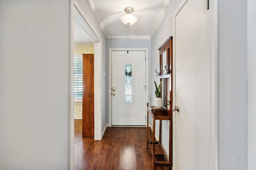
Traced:
<path fill-rule="evenodd" d="M 107 51 L 107 63 L 109 62 L 109 49 L 110 48 L 148 48 L 148 58 L 150 59 L 150 39 L 119 39 L 119 38 L 108 38 L 107 39 L 107 47 L 106 47 L 106 51 Z M 150 65 L 150 63 L 149 63 Z M 109 66 L 107 64 L 107 89 L 109 88 L 109 75 L 108 75 L 108 69 Z M 150 67 L 148 68 L 149 72 L 150 72 Z M 108 90 L 107 90 L 107 98 L 109 97 L 108 95 Z M 107 100 L 107 111 L 109 108 L 109 103 Z M 107 122 L 109 123 L 109 114 L 107 114 Z"/>

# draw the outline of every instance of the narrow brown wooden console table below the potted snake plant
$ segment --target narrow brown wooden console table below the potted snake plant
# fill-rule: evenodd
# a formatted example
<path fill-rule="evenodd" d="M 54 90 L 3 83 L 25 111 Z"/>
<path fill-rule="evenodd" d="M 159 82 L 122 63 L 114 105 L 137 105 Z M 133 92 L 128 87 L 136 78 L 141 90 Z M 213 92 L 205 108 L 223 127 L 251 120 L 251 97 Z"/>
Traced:
<path fill-rule="evenodd" d="M 148 127 L 148 114 L 153 118 L 153 131 L 152 140 L 149 140 L 149 127 Z M 155 123 L 156 120 L 160 120 L 159 127 L 159 141 L 155 141 Z M 166 156 L 161 143 L 161 131 L 162 131 L 162 120 L 170 121 L 170 137 L 169 137 L 169 158 Z M 154 143 L 154 145 L 153 145 Z M 150 147 L 152 153 L 152 162 L 155 166 L 169 166 L 169 170 L 172 169 L 172 115 L 170 115 L 166 108 L 162 107 L 157 109 L 154 106 L 148 106 L 147 111 L 147 149 Z"/>

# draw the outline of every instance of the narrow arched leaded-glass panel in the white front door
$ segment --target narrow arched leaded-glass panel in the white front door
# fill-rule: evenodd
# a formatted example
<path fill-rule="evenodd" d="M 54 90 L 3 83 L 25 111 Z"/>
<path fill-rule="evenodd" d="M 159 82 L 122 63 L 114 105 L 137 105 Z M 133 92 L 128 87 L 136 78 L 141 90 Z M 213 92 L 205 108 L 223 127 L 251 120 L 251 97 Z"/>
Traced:
<path fill-rule="evenodd" d="M 132 66 L 125 66 L 125 103 L 132 103 Z"/>

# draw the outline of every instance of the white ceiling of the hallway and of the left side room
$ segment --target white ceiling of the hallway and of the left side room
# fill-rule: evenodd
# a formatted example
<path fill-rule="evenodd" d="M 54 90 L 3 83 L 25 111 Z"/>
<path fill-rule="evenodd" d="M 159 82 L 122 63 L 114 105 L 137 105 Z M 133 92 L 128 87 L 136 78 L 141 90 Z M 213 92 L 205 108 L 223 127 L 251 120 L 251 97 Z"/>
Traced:
<path fill-rule="evenodd" d="M 170 0 L 87 0 L 107 38 L 150 39 L 157 29 Z M 124 8 L 134 8 L 138 21 L 125 25 L 120 21 Z M 74 43 L 92 44 L 88 34 L 74 20 Z"/>

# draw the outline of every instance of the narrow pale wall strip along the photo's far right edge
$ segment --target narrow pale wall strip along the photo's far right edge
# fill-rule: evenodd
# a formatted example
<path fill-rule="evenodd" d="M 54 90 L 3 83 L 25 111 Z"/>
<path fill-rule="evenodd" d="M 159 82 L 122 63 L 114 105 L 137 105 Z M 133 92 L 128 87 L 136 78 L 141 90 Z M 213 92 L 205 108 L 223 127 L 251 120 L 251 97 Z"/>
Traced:
<path fill-rule="evenodd" d="M 256 1 L 247 1 L 248 170 L 256 169 Z"/>

